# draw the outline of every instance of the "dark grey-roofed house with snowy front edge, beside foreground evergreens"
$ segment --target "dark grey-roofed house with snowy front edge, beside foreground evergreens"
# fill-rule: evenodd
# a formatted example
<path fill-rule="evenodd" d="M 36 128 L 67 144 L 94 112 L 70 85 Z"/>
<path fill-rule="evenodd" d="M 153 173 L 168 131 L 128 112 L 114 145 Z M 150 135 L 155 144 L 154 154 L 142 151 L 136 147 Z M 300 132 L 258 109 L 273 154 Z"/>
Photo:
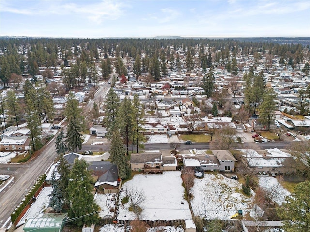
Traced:
<path fill-rule="evenodd" d="M 121 179 L 118 178 L 116 164 L 108 161 L 97 161 L 89 163 L 88 170 L 92 170 L 92 176 L 96 181 L 95 187 L 104 193 L 118 193 Z"/>

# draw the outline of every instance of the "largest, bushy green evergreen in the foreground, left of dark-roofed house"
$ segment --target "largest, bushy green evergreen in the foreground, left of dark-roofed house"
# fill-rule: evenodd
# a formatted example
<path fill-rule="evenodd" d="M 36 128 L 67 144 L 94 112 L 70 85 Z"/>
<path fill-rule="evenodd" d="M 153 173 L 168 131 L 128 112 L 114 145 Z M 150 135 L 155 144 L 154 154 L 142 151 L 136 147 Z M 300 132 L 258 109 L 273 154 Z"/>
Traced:
<path fill-rule="evenodd" d="M 74 160 L 74 164 L 69 174 L 69 185 L 67 188 L 70 208 L 69 218 L 74 220 L 77 226 L 98 222 L 99 206 L 93 198 L 93 184 L 90 171 L 87 170 L 88 164 L 85 160 Z"/>

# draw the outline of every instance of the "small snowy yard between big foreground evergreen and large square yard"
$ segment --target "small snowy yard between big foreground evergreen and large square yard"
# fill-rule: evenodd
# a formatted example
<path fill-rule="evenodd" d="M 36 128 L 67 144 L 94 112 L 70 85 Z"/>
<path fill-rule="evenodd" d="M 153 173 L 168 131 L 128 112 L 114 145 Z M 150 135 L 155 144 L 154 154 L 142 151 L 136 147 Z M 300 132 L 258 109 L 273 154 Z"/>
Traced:
<path fill-rule="evenodd" d="M 94 196 L 95 202 L 101 208 L 99 213 L 99 217 L 101 218 L 109 218 L 114 216 L 114 211 L 111 212 L 110 209 L 115 209 L 115 197 L 116 194 L 98 194 L 96 193 Z M 112 199 L 114 199 L 112 201 Z"/>

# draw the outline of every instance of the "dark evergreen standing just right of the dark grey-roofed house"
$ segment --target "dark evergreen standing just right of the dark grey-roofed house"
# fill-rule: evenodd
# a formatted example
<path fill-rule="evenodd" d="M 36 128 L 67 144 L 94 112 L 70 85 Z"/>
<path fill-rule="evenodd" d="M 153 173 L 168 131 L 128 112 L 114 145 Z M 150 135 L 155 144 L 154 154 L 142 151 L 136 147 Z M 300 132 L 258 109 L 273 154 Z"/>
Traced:
<path fill-rule="evenodd" d="M 118 176 L 122 179 L 128 178 L 131 173 L 128 166 L 128 156 L 125 153 L 126 150 L 121 135 L 118 131 L 114 131 L 111 141 L 110 159 L 112 163 L 117 165 Z"/>

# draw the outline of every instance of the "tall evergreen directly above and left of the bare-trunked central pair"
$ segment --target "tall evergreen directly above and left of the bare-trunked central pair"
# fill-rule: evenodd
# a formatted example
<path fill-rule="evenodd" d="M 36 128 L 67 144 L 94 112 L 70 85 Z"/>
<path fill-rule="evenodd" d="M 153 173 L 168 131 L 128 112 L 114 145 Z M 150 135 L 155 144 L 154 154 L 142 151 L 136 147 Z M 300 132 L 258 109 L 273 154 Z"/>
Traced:
<path fill-rule="evenodd" d="M 113 131 L 116 130 L 116 116 L 118 112 L 118 108 L 120 106 L 120 98 L 115 93 L 113 88 L 110 88 L 107 98 L 104 102 L 104 108 L 105 108 L 105 118 L 104 118 L 104 124 L 108 130 L 107 137 L 111 138 Z"/>

